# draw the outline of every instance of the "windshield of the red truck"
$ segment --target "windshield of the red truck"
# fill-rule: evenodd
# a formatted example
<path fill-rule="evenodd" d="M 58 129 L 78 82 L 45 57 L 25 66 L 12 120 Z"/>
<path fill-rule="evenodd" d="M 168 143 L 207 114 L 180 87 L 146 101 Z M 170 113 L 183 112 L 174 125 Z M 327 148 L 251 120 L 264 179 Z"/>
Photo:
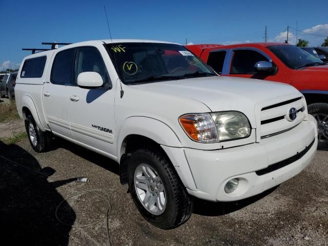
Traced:
<path fill-rule="evenodd" d="M 322 60 L 294 45 L 273 45 L 268 49 L 292 69 L 323 65 Z"/>

